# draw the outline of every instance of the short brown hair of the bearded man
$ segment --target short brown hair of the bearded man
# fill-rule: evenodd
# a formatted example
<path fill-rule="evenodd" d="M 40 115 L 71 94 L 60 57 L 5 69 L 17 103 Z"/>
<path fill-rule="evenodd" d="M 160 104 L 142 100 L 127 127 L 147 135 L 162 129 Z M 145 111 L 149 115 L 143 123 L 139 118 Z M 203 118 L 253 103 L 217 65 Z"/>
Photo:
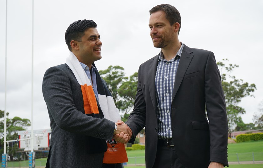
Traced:
<path fill-rule="evenodd" d="M 174 23 L 178 22 L 180 24 L 178 34 L 181 29 L 181 15 L 179 11 L 172 5 L 169 4 L 162 4 L 162 5 L 157 5 L 153 7 L 149 12 L 150 15 L 154 12 L 158 11 L 163 11 L 165 12 L 166 16 L 165 18 L 170 22 L 170 25 L 172 26 Z"/>

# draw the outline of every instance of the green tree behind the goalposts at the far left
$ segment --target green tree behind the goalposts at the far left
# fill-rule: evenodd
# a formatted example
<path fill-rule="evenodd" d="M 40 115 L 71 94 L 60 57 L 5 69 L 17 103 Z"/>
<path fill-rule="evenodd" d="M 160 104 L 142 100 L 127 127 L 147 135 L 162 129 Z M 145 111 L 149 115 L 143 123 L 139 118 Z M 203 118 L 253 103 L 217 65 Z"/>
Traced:
<path fill-rule="evenodd" d="M 8 118 L 9 113 L 7 112 L 7 120 L 6 120 L 6 140 L 15 140 L 18 139 L 18 131 L 26 130 L 28 126 L 31 126 L 30 120 L 26 118 L 13 117 L 12 119 Z M 0 152 L 3 153 L 4 146 L 4 111 L 0 110 Z M 15 155 L 16 150 L 18 149 L 17 142 L 7 143 L 7 153 L 10 156 L 11 160 L 13 160 L 13 156 Z"/>

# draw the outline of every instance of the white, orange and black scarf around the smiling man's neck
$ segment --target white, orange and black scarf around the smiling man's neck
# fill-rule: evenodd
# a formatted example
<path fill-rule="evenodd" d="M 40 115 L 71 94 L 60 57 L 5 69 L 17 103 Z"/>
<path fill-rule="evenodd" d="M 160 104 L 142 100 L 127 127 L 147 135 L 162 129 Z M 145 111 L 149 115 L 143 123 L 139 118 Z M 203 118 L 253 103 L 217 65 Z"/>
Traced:
<path fill-rule="evenodd" d="M 66 59 L 66 64 L 70 67 L 81 86 L 85 114 L 94 114 L 94 116 L 99 117 L 99 109 L 92 85 L 73 52 L 70 52 L 69 57 Z M 95 73 L 97 76 L 98 102 L 104 118 L 116 123 L 121 119 L 121 116 L 114 104 L 108 87 L 103 84 L 104 81 L 102 81 L 97 69 Z M 114 139 L 106 140 L 106 143 L 108 148 L 104 153 L 103 163 L 124 163 L 128 161 L 124 144 L 118 143 Z"/>

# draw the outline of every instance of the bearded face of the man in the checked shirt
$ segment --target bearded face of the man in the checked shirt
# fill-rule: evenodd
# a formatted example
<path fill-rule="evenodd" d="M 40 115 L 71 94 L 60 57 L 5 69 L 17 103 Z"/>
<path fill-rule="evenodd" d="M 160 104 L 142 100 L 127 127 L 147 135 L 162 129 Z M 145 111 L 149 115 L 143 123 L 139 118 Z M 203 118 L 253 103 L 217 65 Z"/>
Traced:
<path fill-rule="evenodd" d="M 165 17 L 165 12 L 157 11 L 150 15 L 149 27 L 153 46 L 156 48 L 165 48 L 172 46 L 176 42 L 176 33 L 174 25 Z"/>

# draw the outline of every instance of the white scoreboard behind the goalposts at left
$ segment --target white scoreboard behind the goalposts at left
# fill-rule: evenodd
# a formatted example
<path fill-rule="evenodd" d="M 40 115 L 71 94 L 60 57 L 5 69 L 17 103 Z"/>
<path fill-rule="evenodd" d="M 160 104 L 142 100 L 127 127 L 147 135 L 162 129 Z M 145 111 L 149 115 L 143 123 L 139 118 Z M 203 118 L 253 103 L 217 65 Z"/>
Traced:
<path fill-rule="evenodd" d="M 24 151 L 31 150 L 31 140 L 23 140 L 31 137 L 31 130 L 29 131 L 18 131 L 18 136 L 21 141 L 18 143 L 19 149 L 25 149 Z M 39 148 L 48 148 L 51 136 L 51 129 L 45 130 L 34 130 L 34 150 Z"/>

